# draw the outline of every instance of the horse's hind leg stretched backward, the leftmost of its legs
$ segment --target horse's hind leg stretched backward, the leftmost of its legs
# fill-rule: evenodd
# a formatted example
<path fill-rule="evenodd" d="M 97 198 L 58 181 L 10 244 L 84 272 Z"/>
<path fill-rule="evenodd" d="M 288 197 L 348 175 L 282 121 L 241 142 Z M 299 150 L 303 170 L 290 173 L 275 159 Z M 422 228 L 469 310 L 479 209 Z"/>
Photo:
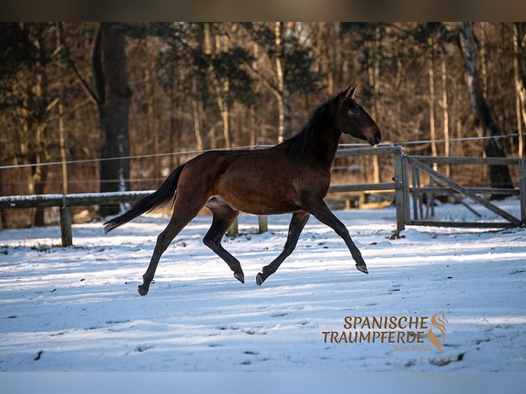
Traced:
<path fill-rule="evenodd" d="M 183 202 L 183 200 L 185 202 Z M 193 202 L 191 205 L 187 199 L 183 199 L 181 194 L 179 194 L 174 203 L 174 211 L 172 213 L 172 218 L 168 226 L 164 229 L 162 233 L 157 237 L 157 244 L 155 244 L 155 249 L 152 254 L 152 259 L 150 259 L 150 264 L 146 273 L 143 275 L 143 283 L 138 287 L 139 294 L 144 296 L 148 294 L 150 289 L 150 283 L 152 283 L 153 277 L 155 276 L 155 270 L 157 269 L 157 264 L 159 264 L 159 259 L 161 255 L 170 245 L 170 242 L 174 240 L 177 234 L 192 220 L 197 213 L 203 208 L 205 203 Z"/>

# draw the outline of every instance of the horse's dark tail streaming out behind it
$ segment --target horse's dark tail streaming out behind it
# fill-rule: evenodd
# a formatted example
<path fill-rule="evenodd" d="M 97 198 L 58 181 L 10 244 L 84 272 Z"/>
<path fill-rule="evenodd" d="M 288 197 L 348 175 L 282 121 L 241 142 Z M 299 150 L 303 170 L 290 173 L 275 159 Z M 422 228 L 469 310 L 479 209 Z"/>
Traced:
<path fill-rule="evenodd" d="M 161 187 L 150 194 L 150 196 L 146 196 L 135 202 L 135 204 L 132 205 L 132 207 L 128 209 L 128 211 L 124 212 L 121 216 L 117 216 L 116 218 L 105 222 L 104 233 L 108 233 L 108 231 L 116 229 L 117 227 L 122 226 L 122 224 L 125 224 L 130 220 L 137 218 L 137 216 L 141 216 L 143 213 L 151 211 L 156 207 L 167 205 L 168 202 L 170 202 L 170 200 L 172 200 L 175 196 L 177 183 L 179 183 L 179 176 L 181 176 L 183 167 L 185 167 L 184 164 L 179 165 L 179 167 L 172 171 L 172 174 L 170 174 L 168 178 L 165 179 Z"/>

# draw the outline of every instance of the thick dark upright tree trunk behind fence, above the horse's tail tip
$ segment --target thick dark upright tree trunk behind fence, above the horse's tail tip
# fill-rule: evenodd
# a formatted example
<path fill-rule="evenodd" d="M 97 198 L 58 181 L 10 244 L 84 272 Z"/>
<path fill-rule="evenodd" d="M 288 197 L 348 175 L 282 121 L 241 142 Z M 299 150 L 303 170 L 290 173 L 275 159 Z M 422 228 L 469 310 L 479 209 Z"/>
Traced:
<path fill-rule="evenodd" d="M 100 192 L 130 189 L 128 113 L 131 91 L 126 74 L 126 39 L 114 23 L 102 23 L 93 54 L 100 115 Z M 98 47 L 98 48 L 97 48 Z M 111 158 L 118 158 L 106 160 Z M 100 207 L 100 216 L 119 213 L 119 205 Z"/>

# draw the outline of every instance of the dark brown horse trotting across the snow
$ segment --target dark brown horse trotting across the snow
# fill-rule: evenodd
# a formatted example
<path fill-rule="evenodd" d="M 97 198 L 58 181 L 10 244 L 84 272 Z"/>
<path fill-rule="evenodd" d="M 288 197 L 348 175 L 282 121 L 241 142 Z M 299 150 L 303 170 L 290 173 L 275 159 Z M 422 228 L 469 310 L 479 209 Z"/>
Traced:
<path fill-rule="evenodd" d="M 345 225 L 323 202 L 341 133 L 365 139 L 371 146 L 382 140 L 374 120 L 354 100 L 355 89 L 356 86 L 349 86 L 318 106 L 301 132 L 272 148 L 200 154 L 177 167 L 156 192 L 104 223 L 104 230 L 108 232 L 173 201 L 172 218 L 157 237 L 139 294 L 148 294 L 161 255 L 205 205 L 213 219 L 203 242 L 225 260 L 241 283 L 244 283 L 244 274 L 240 262 L 221 245 L 223 235 L 240 211 L 255 215 L 293 214 L 284 250 L 256 276 L 260 286 L 293 252 L 311 213 L 343 238 L 356 268 L 368 273 Z"/>

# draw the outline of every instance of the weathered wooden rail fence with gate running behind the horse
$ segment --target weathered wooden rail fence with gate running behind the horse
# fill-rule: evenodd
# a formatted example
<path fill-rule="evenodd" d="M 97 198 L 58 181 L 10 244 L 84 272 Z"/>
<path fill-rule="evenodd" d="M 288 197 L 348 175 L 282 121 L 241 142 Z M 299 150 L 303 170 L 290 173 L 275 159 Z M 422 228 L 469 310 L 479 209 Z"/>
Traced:
<path fill-rule="evenodd" d="M 393 146 L 380 146 L 376 148 L 341 149 L 336 152 L 336 157 L 358 157 L 373 154 L 392 155 L 393 157 L 393 181 L 384 183 L 358 183 L 353 185 L 331 185 L 330 193 L 348 192 L 378 192 L 390 191 L 394 194 L 396 207 L 396 229 L 402 231 L 406 225 L 426 226 L 455 226 L 455 227 L 515 227 L 526 223 L 526 160 L 512 158 L 479 158 L 479 157 L 422 157 L 408 156 L 399 144 Z M 518 189 L 469 189 L 452 179 L 433 170 L 428 164 L 501 164 L 518 165 Z M 409 173 L 412 174 L 412 185 L 409 182 Z M 433 182 L 442 185 L 435 187 L 420 185 L 420 172 L 426 173 Z M 92 193 L 92 194 L 45 194 L 38 196 L 3 196 L 0 197 L 0 209 L 5 208 L 27 208 L 27 207 L 60 207 L 60 229 L 62 235 L 62 246 L 73 244 L 71 231 L 71 207 L 81 205 L 109 205 L 134 202 L 139 198 L 148 196 L 153 191 L 140 192 L 114 192 L 114 193 Z M 433 196 L 438 193 L 460 194 L 471 198 L 484 207 L 501 216 L 506 222 L 443 222 L 424 219 L 424 194 L 428 203 L 427 209 L 433 207 Z M 515 218 L 496 207 L 479 194 L 510 194 L 520 195 L 521 218 Z M 411 216 L 411 197 L 413 202 L 413 216 Z M 428 215 L 426 215 L 428 216 Z M 267 229 L 266 217 L 259 218 L 260 232 Z M 237 222 L 233 225 L 230 233 L 237 230 Z"/>

